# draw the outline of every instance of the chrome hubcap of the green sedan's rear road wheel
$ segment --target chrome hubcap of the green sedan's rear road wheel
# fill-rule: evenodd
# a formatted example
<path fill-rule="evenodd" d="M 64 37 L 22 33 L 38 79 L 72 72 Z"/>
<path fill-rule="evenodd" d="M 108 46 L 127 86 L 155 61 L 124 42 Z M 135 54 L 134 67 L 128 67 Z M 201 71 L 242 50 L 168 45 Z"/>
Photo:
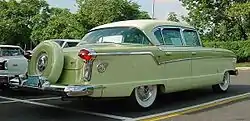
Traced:
<path fill-rule="evenodd" d="M 153 95 L 153 87 L 152 86 L 140 86 L 137 89 L 138 97 L 141 101 L 145 102 L 150 99 Z"/>

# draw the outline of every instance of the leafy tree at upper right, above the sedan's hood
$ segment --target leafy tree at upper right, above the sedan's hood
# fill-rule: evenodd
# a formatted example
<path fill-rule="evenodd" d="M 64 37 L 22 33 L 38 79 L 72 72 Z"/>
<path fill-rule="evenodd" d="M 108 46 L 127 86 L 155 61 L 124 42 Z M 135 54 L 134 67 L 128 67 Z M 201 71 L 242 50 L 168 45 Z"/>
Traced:
<path fill-rule="evenodd" d="M 188 22 L 204 34 L 212 34 L 212 39 L 221 41 L 246 40 L 247 30 L 240 16 L 232 17 L 227 11 L 233 5 L 248 0 L 179 0 L 189 10 Z M 246 20 L 246 19 L 245 19 Z"/>

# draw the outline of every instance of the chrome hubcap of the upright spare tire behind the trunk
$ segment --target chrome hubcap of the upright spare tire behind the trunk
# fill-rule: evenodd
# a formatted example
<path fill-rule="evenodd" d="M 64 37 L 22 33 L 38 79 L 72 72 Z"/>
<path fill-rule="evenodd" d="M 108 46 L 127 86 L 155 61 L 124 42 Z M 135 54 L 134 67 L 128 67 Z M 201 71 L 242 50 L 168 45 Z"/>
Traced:
<path fill-rule="evenodd" d="M 37 70 L 43 72 L 48 64 L 47 54 L 41 54 L 37 61 Z"/>

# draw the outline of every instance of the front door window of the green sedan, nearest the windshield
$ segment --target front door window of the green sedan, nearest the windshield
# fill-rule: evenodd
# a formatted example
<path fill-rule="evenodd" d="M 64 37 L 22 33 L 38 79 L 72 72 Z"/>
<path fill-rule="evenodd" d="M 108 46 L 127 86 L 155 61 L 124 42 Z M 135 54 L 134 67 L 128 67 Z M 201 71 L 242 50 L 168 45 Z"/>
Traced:
<path fill-rule="evenodd" d="M 199 41 L 199 37 L 196 31 L 184 30 L 183 36 L 188 46 L 201 46 L 201 43 Z"/>

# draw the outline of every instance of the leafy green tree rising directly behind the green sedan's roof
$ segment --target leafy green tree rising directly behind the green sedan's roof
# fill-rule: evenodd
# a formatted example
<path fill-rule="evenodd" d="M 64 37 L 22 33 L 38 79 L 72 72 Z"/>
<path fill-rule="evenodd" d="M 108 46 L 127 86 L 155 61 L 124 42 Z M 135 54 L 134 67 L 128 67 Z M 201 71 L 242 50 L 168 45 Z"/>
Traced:
<path fill-rule="evenodd" d="M 148 19 L 149 15 L 140 11 L 140 6 L 127 0 L 77 0 L 81 23 L 87 29 L 121 20 Z"/>

